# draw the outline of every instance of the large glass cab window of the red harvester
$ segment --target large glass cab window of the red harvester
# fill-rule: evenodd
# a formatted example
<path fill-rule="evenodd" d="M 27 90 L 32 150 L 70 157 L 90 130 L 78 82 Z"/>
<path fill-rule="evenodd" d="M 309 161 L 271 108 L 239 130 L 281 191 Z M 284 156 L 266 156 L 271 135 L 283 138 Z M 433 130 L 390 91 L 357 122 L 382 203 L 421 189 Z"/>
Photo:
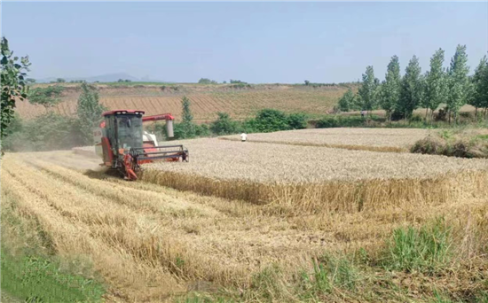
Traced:
<path fill-rule="evenodd" d="M 116 119 L 119 148 L 142 147 L 142 116 L 123 115 Z"/>

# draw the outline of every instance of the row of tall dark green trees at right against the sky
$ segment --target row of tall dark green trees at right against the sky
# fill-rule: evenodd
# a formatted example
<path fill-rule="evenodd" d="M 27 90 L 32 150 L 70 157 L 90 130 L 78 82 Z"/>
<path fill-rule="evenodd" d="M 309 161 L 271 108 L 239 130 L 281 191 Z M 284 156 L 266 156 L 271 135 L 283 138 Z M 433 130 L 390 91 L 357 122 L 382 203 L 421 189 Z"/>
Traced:
<path fill-rule="evenodd" d="M 338 109 L 342 112 L 351 110 L 368 113 L 382 109 L 387 120 L 392 118 L 412 119 L 413 111 L 425 108 L 425 120 L 433 120 L 434 111 L 439 105 L 447 119 L 457 121 L 463 105 L 473 105 L 476 117 L 479 109 L 484 118 L 488 113 L 488 60 L 486 55 L 476 66 L 475 73 L 468 75 L 468 54 L 466 45 L 458 45 L 451 58 L 450 66 L 444 67 L 445 51 L 437 50 L 430 58 L 429 70 L 421 73 L 419 58 L 413 56 L 405 67 L 405 74 L 400 74 L 399 59 L 395 55 L 390 59 L 385 80 L 380 82 L 374 76 L 374 67 L 367 66 L 362 75 L 361 86 L 354 94 L 349 89 L 340 99 Z"/>

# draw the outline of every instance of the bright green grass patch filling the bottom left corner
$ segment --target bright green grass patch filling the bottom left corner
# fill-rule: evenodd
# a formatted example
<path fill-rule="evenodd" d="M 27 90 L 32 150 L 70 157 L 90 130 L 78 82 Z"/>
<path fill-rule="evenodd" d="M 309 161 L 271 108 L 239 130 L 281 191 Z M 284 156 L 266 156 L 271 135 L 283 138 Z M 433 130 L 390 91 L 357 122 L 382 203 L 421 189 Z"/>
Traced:
<path fill-rule="evenodd" d="M 104 287 L 98 281 L 59 270 L 43 257 L 13 256 L 2 248 L 2 292 L 25 302 L 100 302 Z"/>

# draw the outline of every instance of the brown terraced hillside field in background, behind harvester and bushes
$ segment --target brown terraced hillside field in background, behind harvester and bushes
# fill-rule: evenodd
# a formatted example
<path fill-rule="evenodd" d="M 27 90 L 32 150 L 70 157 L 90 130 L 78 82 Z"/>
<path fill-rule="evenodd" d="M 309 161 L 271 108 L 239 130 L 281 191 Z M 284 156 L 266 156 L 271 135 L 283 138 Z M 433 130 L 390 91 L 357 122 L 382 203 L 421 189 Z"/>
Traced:
<path fill-rule="evenodd" d="M 198 122 L 215 120 L 217 112 L 229 113 L 233 118 L 242 120 L 264 108 L 294 113 L 327 113 L 346 91 L 343 87 L 303 89 L 287 85 L 264 85 L 254 89 L 226 89 L 225 85 L 203 89 L 199 85 L 183 85 L 181 91 L 170 93 L 155 86 L 98 88 L 100 102 L 108 109 L 139 109 L 146 111 L 146 114 L 172 113 L 177 120 L 181 120 L 181 98 L 186 96 L 192 102 L 194 120 Z M 75 115 L 79 94 L 77 88 L 67 89 L 62 102 L 50 111 Z M 43 106 L 32 105 L 28 101 L 19 102 L 17 111 L 22 119 L 32 119 L 46 113 Z"/>

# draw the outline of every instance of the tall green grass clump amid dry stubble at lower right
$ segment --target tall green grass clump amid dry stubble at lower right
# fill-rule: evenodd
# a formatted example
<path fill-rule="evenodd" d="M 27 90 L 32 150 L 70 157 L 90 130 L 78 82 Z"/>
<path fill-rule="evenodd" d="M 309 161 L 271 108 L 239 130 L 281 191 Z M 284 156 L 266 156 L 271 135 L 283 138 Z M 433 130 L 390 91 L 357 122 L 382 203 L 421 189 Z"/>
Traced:
<path fill-rule="evenodd" d="M 451 260 L 452 242 L 451 230 L 442 220 L 420 229 L 395 229 L 385 265 L 389 269 L 432 274 Z"/>

